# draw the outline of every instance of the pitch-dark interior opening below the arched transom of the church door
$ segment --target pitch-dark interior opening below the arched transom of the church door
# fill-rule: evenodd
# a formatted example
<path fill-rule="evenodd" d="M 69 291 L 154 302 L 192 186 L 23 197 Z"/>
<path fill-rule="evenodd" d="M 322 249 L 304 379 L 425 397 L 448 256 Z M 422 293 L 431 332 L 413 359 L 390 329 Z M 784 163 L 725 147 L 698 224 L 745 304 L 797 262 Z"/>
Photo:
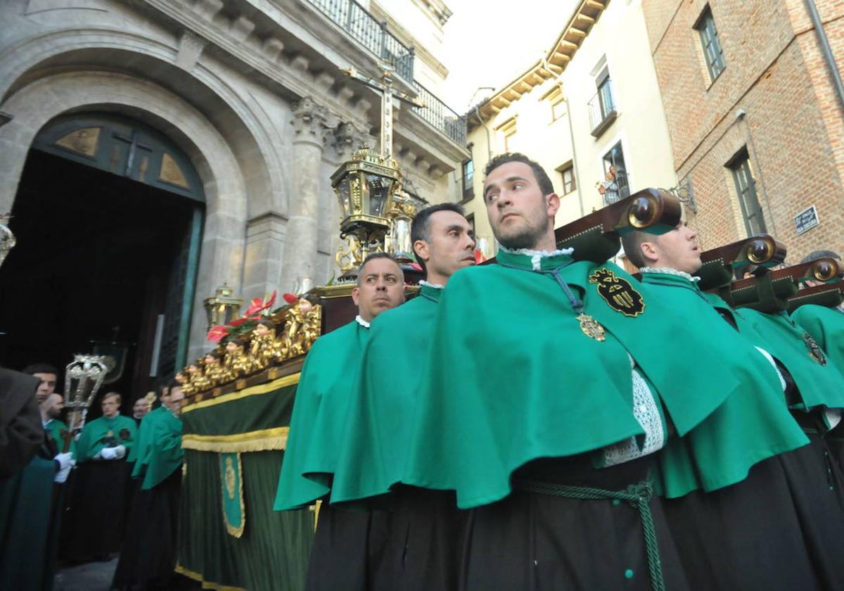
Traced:
<path fill-rule="evenodd" d="M 172 375 L 197 203 L 122 176 L 31 150 L 14 201 L 17 246 L 0 268 L 0 365 L 64 366 L 92 341 L 128 344 L 123 412 L 154 387 L 150 363 L 160 314 L 160 377 Z M 169 316 L 169 317 L 168 317 Z M 119 328 L 118 328 L 119 327 Z M 117 328 L 117 332 L 116 332 Z M 168 331 L 170 335 L 168 336 Z M 90 418 L 100 415 L 99 404 Z"/>

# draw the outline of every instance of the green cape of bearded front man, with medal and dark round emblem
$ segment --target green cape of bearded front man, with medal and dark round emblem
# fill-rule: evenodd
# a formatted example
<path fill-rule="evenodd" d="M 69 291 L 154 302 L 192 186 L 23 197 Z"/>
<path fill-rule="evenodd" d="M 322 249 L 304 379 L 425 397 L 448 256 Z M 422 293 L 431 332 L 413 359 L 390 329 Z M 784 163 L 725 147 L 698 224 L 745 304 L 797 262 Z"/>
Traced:
<path fill-rule="evenodd" d="M 603 342 L 582 332 L 553 277 L 531 272 L 531 257 L 502 250 L 498 262 L 457 272 L 441 296 L 403 482 L 455 490 L 459 507 L 475 507 L 508 495 L 511 472 L 532 459 L 642 435 L 631 412 L 628 350 L 680 432 L 738 388 L 728 374 L 695 375 L 697 360 L 671 355 L 665 344 L 687 331 L 658 301 L 645 301 L 630 317 L 612 307 L 602 286 L 589 281 L 594 263 L 538 259 L 546 271 L 565 265 L 560 277 L 606 328 Z M 600 268 L 628 285 L 636 281 L 611 263 Z"/>

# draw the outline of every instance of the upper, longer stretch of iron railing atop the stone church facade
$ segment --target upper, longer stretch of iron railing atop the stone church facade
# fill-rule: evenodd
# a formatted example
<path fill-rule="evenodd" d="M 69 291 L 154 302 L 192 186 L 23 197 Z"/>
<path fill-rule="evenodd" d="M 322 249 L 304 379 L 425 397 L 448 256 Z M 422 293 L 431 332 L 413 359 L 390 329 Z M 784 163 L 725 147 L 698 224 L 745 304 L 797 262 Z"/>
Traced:
<path fill-rule="evenodd" d="M 355 40 L 385 62 L 396 73 L 411 82 L 414 79 L 414 49 L 405 46 L 387 30 L 387 23 L 379 23 L 354 0 L 308 0 L 322 14 L 339 24 Z"/>

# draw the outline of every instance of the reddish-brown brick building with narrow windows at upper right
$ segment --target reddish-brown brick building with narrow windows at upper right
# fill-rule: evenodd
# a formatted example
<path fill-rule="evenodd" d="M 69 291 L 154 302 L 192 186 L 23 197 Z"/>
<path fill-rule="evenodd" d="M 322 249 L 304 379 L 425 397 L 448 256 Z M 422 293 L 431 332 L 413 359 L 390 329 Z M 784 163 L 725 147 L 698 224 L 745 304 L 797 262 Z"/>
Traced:
<path fill-rule="evenodd" d="M 788 263 L 844 251 L 844 104 L 803 0 L 642 0 L 671 135 L 705 248 L 764 229 Z M 836 63 L 844 3 L 814 0 Z M 820 225 L 798 234 L 813 206 Z"/>

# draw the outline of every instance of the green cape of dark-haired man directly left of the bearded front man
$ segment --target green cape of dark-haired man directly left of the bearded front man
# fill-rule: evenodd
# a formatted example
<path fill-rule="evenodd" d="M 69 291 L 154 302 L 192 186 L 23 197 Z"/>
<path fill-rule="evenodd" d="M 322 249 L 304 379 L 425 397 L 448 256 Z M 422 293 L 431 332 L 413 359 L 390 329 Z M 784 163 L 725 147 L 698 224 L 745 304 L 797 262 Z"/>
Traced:
<path fill-rule="evenodd" d="M 331 502 L 389 492 L 402 480 L 421 379 L 441 289 L 423 285 L 403 306 L 372 323 L 349 407 Z"/>

